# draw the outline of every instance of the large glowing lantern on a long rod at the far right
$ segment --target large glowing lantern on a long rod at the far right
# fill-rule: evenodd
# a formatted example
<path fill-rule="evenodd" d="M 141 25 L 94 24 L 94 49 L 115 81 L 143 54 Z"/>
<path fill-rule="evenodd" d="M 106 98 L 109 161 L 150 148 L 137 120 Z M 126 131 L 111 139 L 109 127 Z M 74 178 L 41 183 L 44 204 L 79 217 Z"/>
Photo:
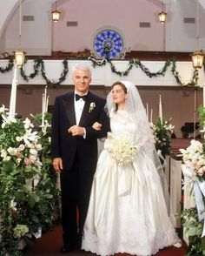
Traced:
<path fill-rule="evenodd" d="M 196 49 L 198 49 L 198 40 L 199 40 L 199 0 L 196 3 L 196 38 L 195 38 L 195 44 L 196 44 Z M 192 64 L 195 70 L 199 70 L 202 68 L 203 65 L 203 58 L 204 58 L 204 52 L 196 50 L 191 54 L 192 58 Z"/>

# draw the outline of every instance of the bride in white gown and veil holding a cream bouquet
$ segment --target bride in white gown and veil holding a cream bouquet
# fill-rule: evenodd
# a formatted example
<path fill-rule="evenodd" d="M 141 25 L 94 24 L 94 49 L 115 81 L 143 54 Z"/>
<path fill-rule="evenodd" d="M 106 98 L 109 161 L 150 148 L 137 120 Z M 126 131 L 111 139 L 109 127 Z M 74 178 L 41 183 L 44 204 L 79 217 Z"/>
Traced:
<path fill-rule="evenodd" d="M 112 132 L 98 159 L 82 248 L 103 256 L 151 255 L 165 246 L 180 246 L 168 216 L 162 165 L 135 84 L 113 84 L 107 106 Z M 100 129 L 101 124 L 93 127 Z"/>

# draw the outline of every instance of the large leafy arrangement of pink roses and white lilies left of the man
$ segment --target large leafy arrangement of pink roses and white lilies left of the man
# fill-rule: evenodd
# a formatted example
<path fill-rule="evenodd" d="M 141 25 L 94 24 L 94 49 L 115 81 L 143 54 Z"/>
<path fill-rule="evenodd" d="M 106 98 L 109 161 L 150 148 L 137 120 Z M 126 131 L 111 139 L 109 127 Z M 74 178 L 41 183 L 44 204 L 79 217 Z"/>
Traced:
<path fill-rule="evenodd" d="M 28 245 L 59 218 L 59 191 L 50 158 L 50 114 L 10 118 L 0 108 L 0 252 L 21 255 Z"/>

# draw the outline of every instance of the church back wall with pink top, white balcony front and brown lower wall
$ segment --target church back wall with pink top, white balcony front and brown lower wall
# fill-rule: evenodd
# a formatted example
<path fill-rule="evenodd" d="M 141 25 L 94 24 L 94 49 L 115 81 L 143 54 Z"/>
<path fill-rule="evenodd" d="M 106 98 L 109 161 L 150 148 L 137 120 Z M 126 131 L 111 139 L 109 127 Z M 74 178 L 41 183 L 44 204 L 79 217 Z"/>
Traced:
<path fill-rule="evenodd" d="M 21 44 L 26 52 L 28 63 L 24 71 L 28 76 L 33 72 L 33 61 L 43 57 L 45 72 L 51 81 L 57 81 L 63 71 L 63 59 L 67 58 L 69 67 L 76 61 L 87 60 L 93 56 L 102 60 L 99 49 L 96 48 L 97 37 L 102 31 L 114 30 L 121 38 L 122 45 L 117 50 L 118 55 L 110 57 L 116 71 L 128 71 L 129 61 L 138 59 L 150 72 L 162 69 L 167 60 L 176 59 L 176 71 L 182 79 L 182 84 L 188 84 L 193 77 L 193 67 L 190 53 L 196 47 L 196 29 L 198 30 L 198 47 L 201 50 L 205 42 L 204 1 L 199 1 L 199 11 L 196 17 L 195 0 L 130 0 L 127 1 L 82 1 L 82 0 L 23 0 L 21 35 L 19 32 L 19 1 L 10 0 L 1 3 L 0 20 L 0 53 L 1 66 L 8 62 L 4 58 L 13 55 Z M 58 22 L 53 22 L 51 11 L 61 12 Z M 166 23 L 160 24 L 158 13 L 166 10 Z M 198 28 L 196 28 L 196 18 Z M 19 36 L 21 36 L 19 38 Z M 109 38 L 110 39 L 110 38 Z M 19 42 L 20 41 L 20 42 Z M 110 42 L 109 42 L 110 43 Z M 111 42 L 113 43 L 113 42 Z M 90 65 L 93 63 L 88 61 Z M 195 107 L 202 104 L 202 86 L 204 72 L 201 70 L 198 89 L 193 86 L 182 86 L 176 82 L 169 66 L 164 76 L 148 77 L 139 66 L 131 69 L 128 75 L 117 75 L 111 70 L 110 64 L 93 68 L 91 90 L 103 97 L 106 96 L 110 84 L 116 80 L 131 79 L 136 83 L 142 101 L 148 104 L 149 118 L 158 117 L 159 95 L 162 97 L 163 117 L 172 118 L 175 125 L 175 135 L 182 138 L 182 125 L 193 122 Z M 12 71 L 1 73 L 0 102 L 9 106 L 10 84 Z M 30 113 L 41 112 L 42 93 L 46 84 L 39 73 L 29 82 L 18 74 L 17 113 L 26 117 Z M 66 79 L 56 88 L 49 86 L 50 105 L 56 95 L 71 89 L 70 72 Z M 196 95 L 195 95 L 196 94 Z"/>

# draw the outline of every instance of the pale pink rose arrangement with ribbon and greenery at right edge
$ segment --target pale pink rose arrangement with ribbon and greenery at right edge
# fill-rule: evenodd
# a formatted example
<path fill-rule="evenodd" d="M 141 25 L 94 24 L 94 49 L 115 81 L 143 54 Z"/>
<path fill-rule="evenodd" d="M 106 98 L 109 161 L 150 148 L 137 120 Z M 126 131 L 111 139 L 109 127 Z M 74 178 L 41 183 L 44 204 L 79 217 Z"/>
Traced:
<path fill-rule="evenodd" d="M 205 109 L 201 106 L 198 111 L 204 126 Z M 188 236 L 186 255 L 205 255 L 205 143 L 193 139 L 188 148 L 180 149 L 180 152 L 184 163 L 183 175 L 188 178 L 188 189 L 195 196 L 195 207 L 184 209 L 179 214 Z"/>

